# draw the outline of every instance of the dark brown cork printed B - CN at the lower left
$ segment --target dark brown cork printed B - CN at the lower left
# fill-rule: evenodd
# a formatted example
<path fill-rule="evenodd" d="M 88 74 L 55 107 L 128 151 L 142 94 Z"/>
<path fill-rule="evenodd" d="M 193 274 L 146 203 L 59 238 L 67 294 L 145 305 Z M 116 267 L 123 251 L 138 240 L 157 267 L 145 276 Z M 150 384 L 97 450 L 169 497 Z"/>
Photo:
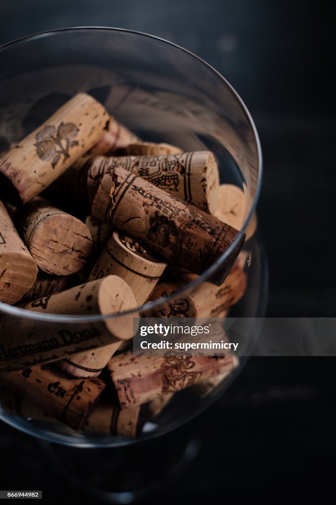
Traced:
<path fill-rule="evenodd" d="M 0 371 L 0 384 L 75 430 L 81 428 L 105 387 L 101 379 L 73 379 L 51 366 Z"/>

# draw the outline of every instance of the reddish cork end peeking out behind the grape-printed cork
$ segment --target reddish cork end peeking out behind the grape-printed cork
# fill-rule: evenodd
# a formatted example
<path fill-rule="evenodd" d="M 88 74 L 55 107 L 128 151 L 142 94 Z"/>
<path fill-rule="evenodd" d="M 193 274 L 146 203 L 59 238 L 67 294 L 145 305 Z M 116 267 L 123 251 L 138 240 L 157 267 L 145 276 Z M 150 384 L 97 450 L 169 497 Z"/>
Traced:
<path fill-rule="evenodd" d="M 114 154 L 124 150 L 129 144 L 137 142 L 141 142 L 141 140 L 135 133 L 113 119 L 109 123 L 108 131 L 90 149 L 89 154 L 94 156 Z"/>

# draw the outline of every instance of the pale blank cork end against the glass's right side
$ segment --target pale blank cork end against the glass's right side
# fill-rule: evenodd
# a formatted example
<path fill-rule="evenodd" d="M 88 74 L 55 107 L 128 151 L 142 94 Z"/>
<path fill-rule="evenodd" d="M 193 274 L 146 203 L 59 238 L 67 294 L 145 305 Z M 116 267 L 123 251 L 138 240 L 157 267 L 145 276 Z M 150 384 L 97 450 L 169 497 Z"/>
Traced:
<path fill-rule="evenodd" d="M 218 189 L 218 207 L 213 213 L 220 221 L 241 230 L 246 211 L 246 197 L 244 192 L 234 184 L 220 184 Z M 245 241 L 249 240 L 257 228 L 257 218 L 253 214 L 245 230 Z"/>

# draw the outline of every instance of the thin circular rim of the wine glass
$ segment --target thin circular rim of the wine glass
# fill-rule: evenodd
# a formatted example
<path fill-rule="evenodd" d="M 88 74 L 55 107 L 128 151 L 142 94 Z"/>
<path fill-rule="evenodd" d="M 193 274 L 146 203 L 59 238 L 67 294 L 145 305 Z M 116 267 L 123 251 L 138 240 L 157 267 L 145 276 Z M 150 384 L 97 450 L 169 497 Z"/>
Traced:
<path fill-rule="evenodd" d="M 233 88 L 233 86 L 225 79 L 225 77 L 223 77 L 209 63 L 207 63 L 202 58 L 195 55 L 194 53 L 192 53 L 188 49 L 185 49 L 184 47 L 181 47 L 180 45 L 175 44 L 174 42 L 170 42 L 169 40 L 165 40 L 165 39 L 157 37 L 155 35 L 150 35 L 148 33 L 143 33 L 143 32 L 139 32 L 139 31 L 135 31 L 135 30 L 128 30 L 128 29 L 124 29 L 124 28 L 111 28 L 111 27 L 105 27 L 105 26 L 79 26 L 79 27 L 58 28 L 58 29 L 54 29 L 54 30 L 47 30 L 47 31 L 38 32 L 38 33 L 34 33 L 32 35 L 26 35 L 24 37 L 17 38 L 15 40 L 7 42 L 3 45 L 0 45 L 0 56 L 1 56 L 1 53 L 4 50 L 6 50 L 8 47 L 15 45 L 15 44 L 19 44 L 20 42 L 36 40 L 39 38 L 43 38 L 45 36 L 57 35 L 60 33 L 71 33 L 71 32 L 79 32 L 79 31 L 87 31 L 87 32 L 106 31 L 106 32 L 111 32 L 111 33 L 120 32 L 120 33 L 125 33 L 125 34 L 138 35 L 140 37 L 147 37 L 149 39 L 153 39 L 153 40 L 162 42 L 163 44 L 171 45 L 175 49 L 179 49 L 183 53 L 186 53 L 187 55 L 198 60 L 199 63 L 201 63 L 202 65 L 207 67 L 208 70 L 210 70 L 210 72 L 215 74 L 222 81 L 223 85 L 227 86 L 230 89 L 230 91 L 232 92 L 232 94 L 236 98 L 236 100 L 237 100 L 238 104 L 240 105 L 241 109 L 243 110 L 243 112 L 246 116 L 247 122 L 249 123 L 251 130 L 253 132 L 254 140 L 255 140 L 255 144 L 256 144 L 256 149 L 257 149 L 257 155 L 258 155 L 258 177 L 257 177 L 256 190 L 255 190 L 255 194 L 254 194 L 254 198 L 253 198 L 250 212 L 247 215 L 247 218 L 242 226 L 242 229 L 239 231 L 239 233 L 237 234 L 235 240 L 230 245 L 230 247 L 228 247 L 228 249 L 222 254 L 222 256 L 220 256 L 198 278 L 189 282 L 188 284 L 183 286 L 181 289 L 174 292 L 174 294 L 171 294 L 167 297 L 158 298 L 158 299 L 151 301 L 141 307 L 135 307 L 134 309 L 129 309 L 127 311 L 120 312 L 118 314 L 116 314 L 116 313 L 96 314 L 96 315 L 91 315 L 91 316 L 83 316 L 83 315 L 67 316 L 64 314 L 43 314 L 40 312 L 34 312 L 34 311 L 30 311 L 28 309 L 14 307 L 12 305 L 5 304 L 4 302 L 0 302 L 0 312 L 2 312 L 3 314 L 8 314 L 10 316 L 38 320 L 38 321 L 44 321 L 44 322 L 86 323 L 86 322 L 105 321 L 107 319 L 113 319 L 113 318 L 131 315 L 131 314 L 137 314 L 140 310 L 141 311 L 150 310 L 153 307 L 161 305 L 163 302 L 167 302 L 167 301 L 169 302 L 170 300 L 175 299 L 177 296 L 180 296 L 181 294 L 183 294 L 185 291 L 187 291 L 189 289 L 193 289 L 201 282 L 206 281 L 212 274 L 214 274 L 216 272 L 218 267 L 228 258 L 228 256 L 231 254 L 231 252 L 235 249 L 239 240 L 242 238 L 242 235 L 244 234 L 246 227 L 249 224 L 249 221 L 252 218 L 252 215 L 256 209 L 256 205 L 257 205 L 259 195 L 260 195 L 261 181 L 262 181 L 262 153 L 261 153 L 261 145 L 260 145 L 259 135 L 258 135 L 256 126 L 254 124 L 254 121 L 252 119 L 252 116 L 251 116 L 250 112 L 248 111 L 248 109 L 247 109 L 246 105 L 244 104 L 240 95 Z"/>

